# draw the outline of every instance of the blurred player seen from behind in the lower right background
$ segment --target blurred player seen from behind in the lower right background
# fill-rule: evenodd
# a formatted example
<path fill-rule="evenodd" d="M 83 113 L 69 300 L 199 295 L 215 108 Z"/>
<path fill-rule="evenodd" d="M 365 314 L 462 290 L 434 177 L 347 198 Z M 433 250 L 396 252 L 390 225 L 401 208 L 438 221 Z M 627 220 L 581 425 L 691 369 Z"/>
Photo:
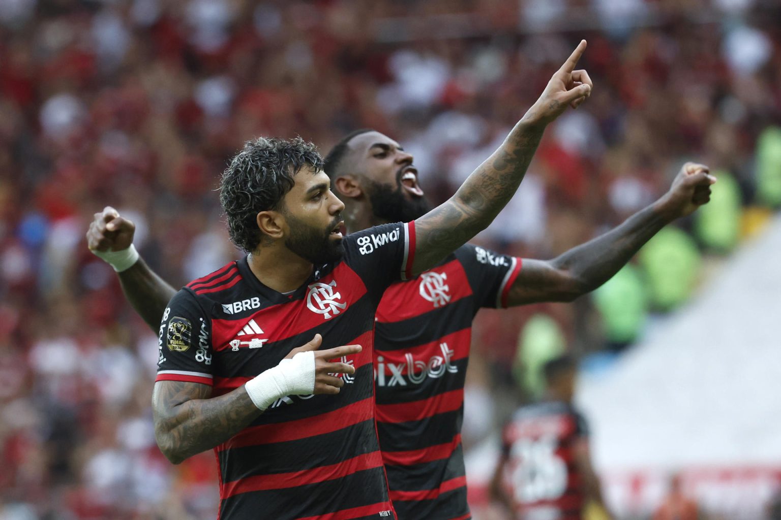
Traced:
<path fill-rule="evenodd" d="M 515 520 L 582 520 L 589 501 L 606 511 L 588 426 L 572 406 L 576 373 L 568 356 L 546 363 L 543 400 L 518 409 L 502 433 L 490 490 Z"/>

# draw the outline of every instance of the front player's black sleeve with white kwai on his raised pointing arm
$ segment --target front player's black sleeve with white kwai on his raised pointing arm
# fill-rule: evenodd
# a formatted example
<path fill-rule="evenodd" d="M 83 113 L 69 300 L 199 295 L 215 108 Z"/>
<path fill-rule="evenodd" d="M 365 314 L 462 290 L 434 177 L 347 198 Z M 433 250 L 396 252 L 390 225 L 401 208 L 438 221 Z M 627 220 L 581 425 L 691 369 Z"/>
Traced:
<path fill-rule="evenodd" d="M 344 239 L 351 269 L 368 285 L 384 291 L 394 281 L 412 278 L 415 222 L 383 224 L 350 233 Z"/>

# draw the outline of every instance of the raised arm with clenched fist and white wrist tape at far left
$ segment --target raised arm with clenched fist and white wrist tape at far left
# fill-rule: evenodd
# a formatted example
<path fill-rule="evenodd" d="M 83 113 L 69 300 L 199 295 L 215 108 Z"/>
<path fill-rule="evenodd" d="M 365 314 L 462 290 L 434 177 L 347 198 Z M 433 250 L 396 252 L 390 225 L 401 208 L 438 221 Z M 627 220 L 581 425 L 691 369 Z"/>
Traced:
<path fill-rule="evenodd" d="M 157 332 L 162 313 L 166 305 L 176 294 L 176 290 L 149 268 L 144 259 L 137 256 L 133 246 L 136 226 L 133 222 L 119 216 L 110 206 L 105 207 L 87 230 L 87 246 L 92 253 L 119 269 L 119 283 L 127 301 L 141 318 Z M 119 265 L 115 266 L 119 258 Z M 126 260 L 127 259 L 127 260 Z M 128 261 L 134 261 L 127 267 Z"/>

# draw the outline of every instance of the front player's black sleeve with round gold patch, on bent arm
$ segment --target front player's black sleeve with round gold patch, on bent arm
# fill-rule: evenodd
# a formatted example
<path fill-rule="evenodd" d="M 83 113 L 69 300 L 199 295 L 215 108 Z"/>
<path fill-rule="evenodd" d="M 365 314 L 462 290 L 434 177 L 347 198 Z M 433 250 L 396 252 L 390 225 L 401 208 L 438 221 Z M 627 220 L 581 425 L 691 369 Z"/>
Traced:
<path fill-rule="evenodd" d="M 183 288 L 168 303 L 160 324 L 155 381 L 212 386 L 211 320 L 197 297 Z"/>

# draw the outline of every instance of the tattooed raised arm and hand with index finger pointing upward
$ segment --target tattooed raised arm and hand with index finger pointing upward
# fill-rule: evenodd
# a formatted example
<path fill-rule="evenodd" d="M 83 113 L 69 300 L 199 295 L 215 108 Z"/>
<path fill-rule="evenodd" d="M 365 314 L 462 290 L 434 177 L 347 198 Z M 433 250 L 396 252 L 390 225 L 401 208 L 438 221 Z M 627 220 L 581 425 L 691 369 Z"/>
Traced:
<path fill-rule="evenodd" d="M 415 221 L 414 274 L 433 267 L 487 228 L 518 189 L 548 123 L 568 104 L 576 108 L 590 95 L 588 74 L 574 70 L 585 48 L 586 41 L 581 41 L 501 147 L 469 175 L 455 195 Z"/>

